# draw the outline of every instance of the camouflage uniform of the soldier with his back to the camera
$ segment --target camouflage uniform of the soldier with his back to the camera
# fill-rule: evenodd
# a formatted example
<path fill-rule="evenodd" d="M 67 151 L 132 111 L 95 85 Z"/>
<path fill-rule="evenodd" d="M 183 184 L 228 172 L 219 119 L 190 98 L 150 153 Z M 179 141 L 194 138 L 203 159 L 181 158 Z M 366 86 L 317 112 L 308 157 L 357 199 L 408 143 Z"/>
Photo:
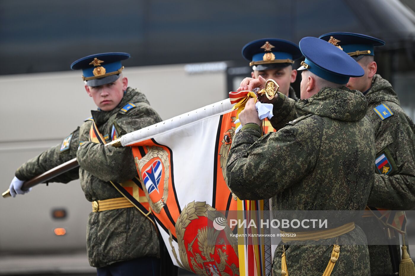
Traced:
<path fill-rule="evenodd" d="M 232 192 L 249 200 L 273 196 L 272 210 L 364 210 L 375 159 L 364 95 L 346 87 L 326 87 L 296 104 L 281 93 L 279 97 L 280 107 L 295 106 L 296 119 L 262 137 L 255 124 L 245 125 L 234 136 L 226 167 Z M 271 123 L 282 124 L 290 114 L 277 110 Z M 341 224 L 352 221 L 353 217 L 343 218 Z M 337 226 L 328 220 L 329 228 Z M 332 275 L 370 275 L 366 237 L 359 226 L 338 239 L 340 257 Z M 282 245 L 274 255 L 274 275 L 281 269 Z M 291 242 L 286 248 L 289 274 L 322 275 L 331 251 L 332 246 Z"/>

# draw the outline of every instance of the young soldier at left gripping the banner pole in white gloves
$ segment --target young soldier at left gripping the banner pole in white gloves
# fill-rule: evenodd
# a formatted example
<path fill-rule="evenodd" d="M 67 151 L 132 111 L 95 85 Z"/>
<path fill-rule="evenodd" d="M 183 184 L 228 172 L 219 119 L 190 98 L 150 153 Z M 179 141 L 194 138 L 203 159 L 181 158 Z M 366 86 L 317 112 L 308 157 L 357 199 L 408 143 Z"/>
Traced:
<path fill-rule="evenodd" d="M 109 142 L 117 136 L 161 121 L 145 95 L 127 87 L 127 78 L 121 74 L 121 60 L 126 58 L 129 58 L 127 53 L 104 53 L 81 58 L 72 64 L 72 69 L 83 69 L 85 89 L 93 97 L 98 110 L 91 111 L 92 117 L 62 144 L 44 151 L 17 169 L 10 185 L 13 197 L 16 192 L 24 193 L 21 191 L 24 180 L 75 157 L 79 168 L 49 182 L 68 183 L 79 178 L 85 197 L 91 202 L 122 197 L 110 181 L 124 182 L 137 175 L 132 150 L 88 141 L 91 125 L 95 122 L 98 131 Z M 92 75 L 89 79 L 88 74 Z M 159 275 L 158 232 L 149 218 L 131 203 L 125 207 L 94 210 L 89 214 L 87 250 L 90 265 L 97 267 L 98 275 L 121 275 L 118 274 L 120 271 L 122 275 Z"/>

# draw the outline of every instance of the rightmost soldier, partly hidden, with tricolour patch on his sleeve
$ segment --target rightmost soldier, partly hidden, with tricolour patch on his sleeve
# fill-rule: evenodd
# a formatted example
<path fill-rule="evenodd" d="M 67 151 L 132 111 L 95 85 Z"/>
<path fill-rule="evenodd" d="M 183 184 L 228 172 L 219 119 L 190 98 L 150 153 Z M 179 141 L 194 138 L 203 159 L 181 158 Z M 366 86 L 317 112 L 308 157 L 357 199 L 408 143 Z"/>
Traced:
<path fill-rule="evenodd" d="M 368 101 L 366 115 L 375 133 L 375 182 L 368 206 L 391 210 L 410 210 L 415 207 L 415 125 L 400 107 L 392 85 L 376 74 L 374 47 L 384 41 L 363 34 L 334 32 L 323 34 L 329 41 L 349 53 L 365 70 L 365 75 L 350 78 L 347 86 L 363 92 Z M 369 212 L 369 215 L 371 213 Z M 389 248 L 383 230 L 385 225 L 372 214 L 361 227 L 370 237 L 369 256 L 372 275 L 392 275 L 392 263 L 400 259 L 397 246 Z M 378 227 L 374 227 L 374 226 Z M 390 229 L 392 230 L 392 229 Z M 393 231 L 393 230 L 392 230 Z M 398 237 L 398 233 L 394 233 Z M 394 252 L 390 252 L 393 250 Z M 391 253 L 396 260 L 391 260 Z"/>

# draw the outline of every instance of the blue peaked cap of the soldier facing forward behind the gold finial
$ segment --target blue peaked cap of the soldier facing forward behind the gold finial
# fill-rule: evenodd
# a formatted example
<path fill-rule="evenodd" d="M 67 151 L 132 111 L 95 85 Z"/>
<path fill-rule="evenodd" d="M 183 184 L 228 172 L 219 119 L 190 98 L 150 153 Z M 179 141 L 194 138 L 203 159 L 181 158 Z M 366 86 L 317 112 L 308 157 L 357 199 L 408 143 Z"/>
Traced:
<path fill-rule="evenodd" d="M 253 70 L 286 67 L 302 56 L 297 44 L 285 39 L 265 38 L 249 42 L 242 48 L 242 56 L 250 61 Z"/>

